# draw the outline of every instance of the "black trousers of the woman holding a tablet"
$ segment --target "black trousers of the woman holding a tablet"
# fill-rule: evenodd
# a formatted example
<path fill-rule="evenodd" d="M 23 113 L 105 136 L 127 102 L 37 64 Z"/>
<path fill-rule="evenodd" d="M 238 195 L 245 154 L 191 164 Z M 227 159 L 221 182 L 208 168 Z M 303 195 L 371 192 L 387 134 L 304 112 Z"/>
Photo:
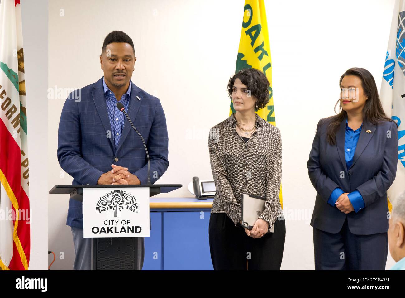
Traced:
<path fill-rule="evenodd" d="M 286 223 L 276 220 L 274 233 L 261 238 L 247 236 L 226 213 L 211 213 L 209 249 L 214 270 L 280 270 L 286 238 Z"/>

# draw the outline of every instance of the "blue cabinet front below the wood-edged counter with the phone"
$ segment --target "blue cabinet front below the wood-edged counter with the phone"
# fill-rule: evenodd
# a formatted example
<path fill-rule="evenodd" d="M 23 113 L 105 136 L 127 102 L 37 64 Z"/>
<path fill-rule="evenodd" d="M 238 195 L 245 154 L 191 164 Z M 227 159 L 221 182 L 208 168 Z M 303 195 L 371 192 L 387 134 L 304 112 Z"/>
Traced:
<path fill-rule="evenodd" d="M 152 229 L 150 237 L 145 237 L 142 270 L 213 270 L 208 239 L 210 211 L 151 211 Z"/>

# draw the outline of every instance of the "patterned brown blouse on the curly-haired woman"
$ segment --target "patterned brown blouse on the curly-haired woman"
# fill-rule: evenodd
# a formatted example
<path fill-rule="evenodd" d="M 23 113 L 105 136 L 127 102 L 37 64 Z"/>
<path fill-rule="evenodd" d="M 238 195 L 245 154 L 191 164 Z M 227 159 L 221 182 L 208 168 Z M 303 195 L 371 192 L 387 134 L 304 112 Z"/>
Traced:
<path fill-rule="evenodd" d="M 266 197 L 260 219 L 275 223 L 282 217 L 281 135 L 277 127 L 256 114 L 257 130 L 245 141 L 233 115 L 215 125 L 208 138 L 211 170 L 217 192 L 211 213 L 226 213 L 237 225 L 242 219 L 242 195 Z"/>

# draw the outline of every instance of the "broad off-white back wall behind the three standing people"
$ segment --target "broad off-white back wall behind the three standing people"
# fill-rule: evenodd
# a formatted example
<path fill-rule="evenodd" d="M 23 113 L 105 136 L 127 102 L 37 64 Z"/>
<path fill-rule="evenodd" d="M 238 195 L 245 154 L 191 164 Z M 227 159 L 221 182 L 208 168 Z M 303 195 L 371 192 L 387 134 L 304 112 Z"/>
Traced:
<path fill-rule="evenodd" d="M 286 223 L 281 269 L 312 270 L 315 190 L 306 163 L 316 124 L 334 113 L 346 69 L 364 67 L 380 86 L 394 0 L 265 3 L 283 139 L 285 215 L 306 214 Z M 170 165 L 158 183 L 184 186 L 161 196 L 190 197 L 193 176 L 212 177 L 207 137 L 210 127 L 228 117 L 226 85 L 235 69 L 243 5 L 243 0 L 50 1 L 49 87 L 81 88 L 98 80 L 104 37 L 126 32 L 137 57 L 132 81 L 160 98 L 167 118 Z M 48 188 L 72 180 L 61 174 L 56 157 L 64 100 L 48 101 Z M 49 196 L 49 249 L 64 252 L 52 269 L 72 268 L 67 208 L 67 195 Z"/>

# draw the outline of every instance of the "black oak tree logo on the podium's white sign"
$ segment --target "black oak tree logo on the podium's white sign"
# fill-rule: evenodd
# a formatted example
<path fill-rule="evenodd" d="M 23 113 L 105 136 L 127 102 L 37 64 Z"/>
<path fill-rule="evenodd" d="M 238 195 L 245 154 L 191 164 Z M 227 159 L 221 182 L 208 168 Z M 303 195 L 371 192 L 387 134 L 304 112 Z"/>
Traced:
<path fill-rule="evenodd" d="M 114 210 L 114 217 L 120 217 L 122 209 L 129 209 L 132 212 L 138 212 L 138 203 L 133 195 L 123 190 L 109 191 L 100 199 L 96 205 L 97 213 L 105 210 Z"/>

